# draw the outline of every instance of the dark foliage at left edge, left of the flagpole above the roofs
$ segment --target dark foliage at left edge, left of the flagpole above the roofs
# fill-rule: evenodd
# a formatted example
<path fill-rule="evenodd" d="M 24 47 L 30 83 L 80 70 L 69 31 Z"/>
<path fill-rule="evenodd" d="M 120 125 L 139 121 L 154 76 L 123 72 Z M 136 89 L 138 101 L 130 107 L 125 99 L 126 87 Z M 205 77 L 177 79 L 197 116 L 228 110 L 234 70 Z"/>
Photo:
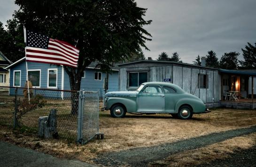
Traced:
<path fill-rule="evenodd" d="M 23 26 L 16 19 L 7 21 L 7 29 L 0 22 L 0 51 L 12 62 L 25 56 Z"/>

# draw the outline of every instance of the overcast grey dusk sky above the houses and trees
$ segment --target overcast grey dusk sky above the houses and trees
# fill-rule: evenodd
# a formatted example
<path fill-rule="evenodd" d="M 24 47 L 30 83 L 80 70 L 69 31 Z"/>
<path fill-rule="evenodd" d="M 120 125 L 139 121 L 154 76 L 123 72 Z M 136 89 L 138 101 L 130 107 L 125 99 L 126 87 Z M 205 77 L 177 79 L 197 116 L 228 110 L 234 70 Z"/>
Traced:
<path fill-rule="evenodd" d="M 225 52 L 241 53 L 247 42 L 256 43 L 256 0 L 136 0 L 147 8 L 145 29 L 153 36 L 145 57 L 157 58 L 175 51 L 185 63 L 213 50 L 220 58 Z M 6 24 L 18 6 L 1 0 L 0 22 Z M 242 56 L 240 55 L 240 59 Z"/>

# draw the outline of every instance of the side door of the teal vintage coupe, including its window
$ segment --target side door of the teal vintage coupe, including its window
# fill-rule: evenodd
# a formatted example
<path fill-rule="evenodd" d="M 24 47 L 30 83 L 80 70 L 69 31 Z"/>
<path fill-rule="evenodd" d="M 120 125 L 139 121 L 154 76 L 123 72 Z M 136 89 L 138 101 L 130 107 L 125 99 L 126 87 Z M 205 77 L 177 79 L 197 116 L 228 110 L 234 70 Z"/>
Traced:
<path fill-rule="evenodd" d="M 139 93 L 138 112 L 164 112 L 164 102 L 164 93 L 161 87 L 156 85 L 146 86 Z"/>

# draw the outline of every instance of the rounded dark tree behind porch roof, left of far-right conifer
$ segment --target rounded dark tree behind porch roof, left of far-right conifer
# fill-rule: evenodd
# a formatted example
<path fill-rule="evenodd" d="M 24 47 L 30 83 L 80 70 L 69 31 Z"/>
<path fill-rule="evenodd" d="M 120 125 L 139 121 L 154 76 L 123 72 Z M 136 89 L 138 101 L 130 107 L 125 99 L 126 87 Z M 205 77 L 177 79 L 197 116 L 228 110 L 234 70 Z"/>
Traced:
<path fill-rule="evenodd" d="M 224 53 L 219 61 L 219 67 L 227 70 L 236 70 L 238 68 L 238 56 L 240 53 L 231 51 Z"/>

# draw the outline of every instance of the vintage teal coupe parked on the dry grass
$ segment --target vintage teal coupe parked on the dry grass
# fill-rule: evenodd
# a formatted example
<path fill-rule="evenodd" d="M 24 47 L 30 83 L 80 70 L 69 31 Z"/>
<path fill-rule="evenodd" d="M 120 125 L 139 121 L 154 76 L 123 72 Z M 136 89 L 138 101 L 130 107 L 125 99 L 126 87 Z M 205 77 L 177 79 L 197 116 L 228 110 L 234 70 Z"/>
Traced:
<path fill-rule="evenodd" d="M 126 112 L 169 113 L 180 119 L 210 112 L 201 99 L 166 82 L 145 82 L 136 91 L 108 92 L 105 94 L 104 109 L 110 109 L 112 117 L 124 117 Z"/>

